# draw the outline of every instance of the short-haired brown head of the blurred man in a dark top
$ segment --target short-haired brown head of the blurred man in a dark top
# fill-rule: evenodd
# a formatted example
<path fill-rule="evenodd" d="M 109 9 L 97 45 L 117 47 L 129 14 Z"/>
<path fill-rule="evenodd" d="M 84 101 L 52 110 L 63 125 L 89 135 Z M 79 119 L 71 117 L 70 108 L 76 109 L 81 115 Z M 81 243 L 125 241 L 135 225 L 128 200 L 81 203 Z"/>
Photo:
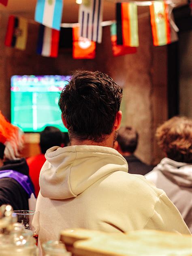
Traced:
<path fill-rule="evenodd" d="M 117 142 L 122 152 L 133 154 L 137 148 L 138 137 L 139 135 L 134 128 L 130 126 L 121 127 L 118 130 Z"/>

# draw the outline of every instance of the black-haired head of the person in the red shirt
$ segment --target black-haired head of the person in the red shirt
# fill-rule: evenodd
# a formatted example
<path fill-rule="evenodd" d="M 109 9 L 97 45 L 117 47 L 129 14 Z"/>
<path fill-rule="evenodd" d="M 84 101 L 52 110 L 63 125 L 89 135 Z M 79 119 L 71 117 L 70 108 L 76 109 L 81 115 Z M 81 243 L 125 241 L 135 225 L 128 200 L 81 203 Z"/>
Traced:
<path fill-rule="evenodd" d="M 47 149 L 53 146 L 61 146 L 62 144 L 62 132 L 53 126 L 47 126 L 40 133 L 40 147 L 41 152 L 45 154 Z"/>

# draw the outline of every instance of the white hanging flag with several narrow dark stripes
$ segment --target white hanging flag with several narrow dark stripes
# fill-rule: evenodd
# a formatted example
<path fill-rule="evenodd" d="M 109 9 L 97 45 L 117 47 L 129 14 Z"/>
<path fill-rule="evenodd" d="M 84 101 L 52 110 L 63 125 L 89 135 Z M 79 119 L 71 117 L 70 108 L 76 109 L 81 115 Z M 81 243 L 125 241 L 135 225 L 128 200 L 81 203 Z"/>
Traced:
<path fill-rule="evenodd" d="M 80 36 L 101 43 L 103 0 L 83 0 L 79 7 Z"/>

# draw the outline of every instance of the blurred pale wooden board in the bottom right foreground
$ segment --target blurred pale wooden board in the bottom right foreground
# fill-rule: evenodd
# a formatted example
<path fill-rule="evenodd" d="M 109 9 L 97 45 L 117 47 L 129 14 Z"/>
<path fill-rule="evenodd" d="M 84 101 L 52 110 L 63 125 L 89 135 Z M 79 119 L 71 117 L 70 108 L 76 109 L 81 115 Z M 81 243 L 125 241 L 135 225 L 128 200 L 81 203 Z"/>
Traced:
<path fill-rule="evenodd" d="M 191 256 L 192 237 L 156 230 L 127 234 L 67 229 L 60 240 L 73 256 Z"/>

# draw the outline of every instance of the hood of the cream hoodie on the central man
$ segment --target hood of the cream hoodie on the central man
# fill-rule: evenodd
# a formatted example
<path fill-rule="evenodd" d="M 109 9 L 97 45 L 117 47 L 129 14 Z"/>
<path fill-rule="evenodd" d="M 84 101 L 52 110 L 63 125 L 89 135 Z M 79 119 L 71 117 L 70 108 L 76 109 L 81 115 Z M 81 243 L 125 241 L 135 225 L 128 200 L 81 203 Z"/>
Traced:
<path fill-rule="evenodd" d="M 125 158 L 110 147 L 51 147 L 45 158 L 39 183 L 41 195 L 51 199 L 76 197 L 105 175 L 128 172 Z"/>

